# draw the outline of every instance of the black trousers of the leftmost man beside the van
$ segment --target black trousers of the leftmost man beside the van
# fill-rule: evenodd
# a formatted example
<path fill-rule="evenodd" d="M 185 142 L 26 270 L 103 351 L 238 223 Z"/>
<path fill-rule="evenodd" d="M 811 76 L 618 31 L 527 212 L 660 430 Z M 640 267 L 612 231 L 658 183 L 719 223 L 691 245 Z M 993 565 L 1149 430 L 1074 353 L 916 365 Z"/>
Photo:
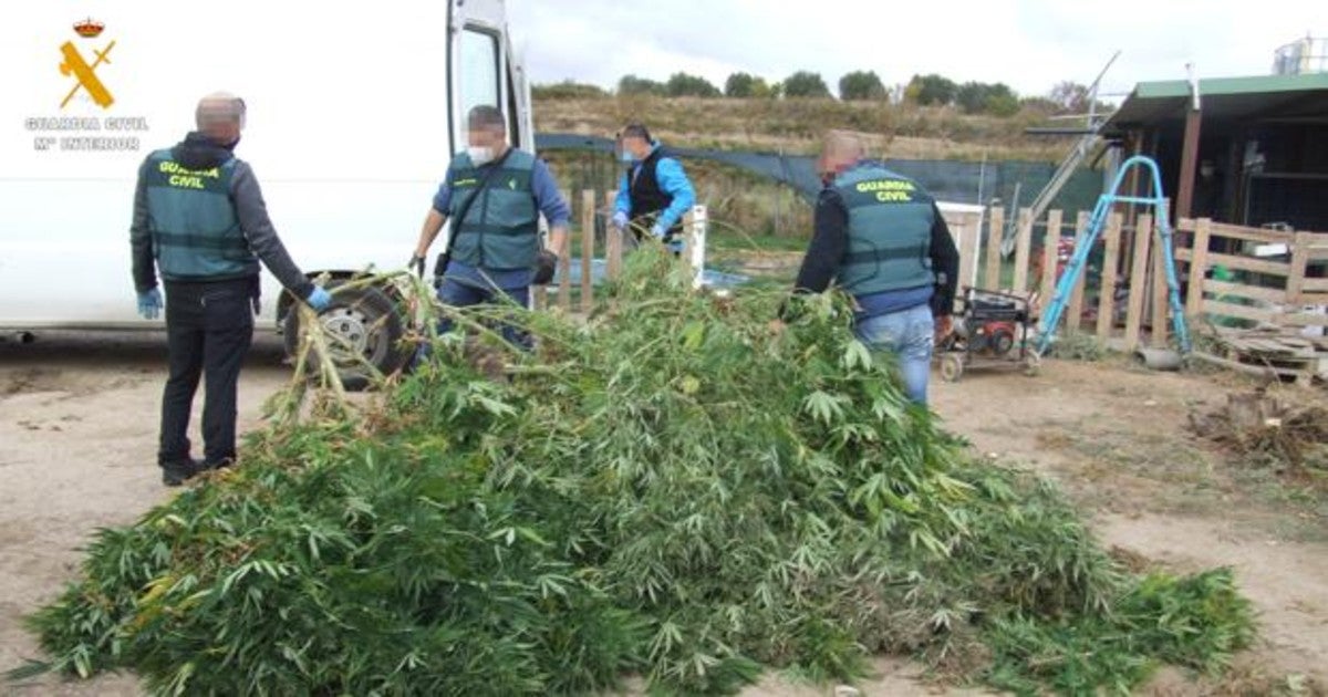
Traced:
<path fill-rule="evenodd" d="M 189 416 L 203 386 L 203 463 L 235 459 L 235 397 L 240 366 L 254 340 L 255 279 L 166 283 L 170 377 L 162 394 L 158 465 L 190 459 Z"/>

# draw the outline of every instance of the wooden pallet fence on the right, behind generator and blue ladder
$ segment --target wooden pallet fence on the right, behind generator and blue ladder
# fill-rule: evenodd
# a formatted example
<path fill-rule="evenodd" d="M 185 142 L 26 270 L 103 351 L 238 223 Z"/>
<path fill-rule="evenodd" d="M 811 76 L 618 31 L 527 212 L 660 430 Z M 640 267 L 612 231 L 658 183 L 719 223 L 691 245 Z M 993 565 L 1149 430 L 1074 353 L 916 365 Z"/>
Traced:
<path fill-rule="evenodd" d="M 1004 212 L 987 212 L 988 230 L 1004 228 Z M 1062 211 L 1032 220 L 1019 212 L 1012 259 L 1003 259 L 1000 239 L 983 239 L 980 223 L 951 220 L 960 250 L 960 287 L 972 285 L 1029 293 L 1045 307 L 1054 295 L 1058 243 L 1086 234 L 1089 214 L 1081 211 L 1066 224 Z M 1126 350 L 1145 343 L 1171 341 L 1170 304 L 1159 254 L 1159 235 L 1151 215 L 1126 224 L 1120 212 L 1108 216 L 1090 264 L 1074 285 L 1057 332 L 1096 336 Z M 1223 250 L 1222 252 L 1208 251 Z M 1174 239 L 1182 305 L 1191 327 L 1212 317 L 1250 320 L 1291 332 L 1328 327 L 1328 235 L 1238 227 L 1208 219 L 1182 219 Z M 1230 272 L 1218 273 L 1218 267 Z M 1089 295 L 1092 292 L 1092 295 Z M 1317 333 L 1317 331 L 1313 331 Z"/>

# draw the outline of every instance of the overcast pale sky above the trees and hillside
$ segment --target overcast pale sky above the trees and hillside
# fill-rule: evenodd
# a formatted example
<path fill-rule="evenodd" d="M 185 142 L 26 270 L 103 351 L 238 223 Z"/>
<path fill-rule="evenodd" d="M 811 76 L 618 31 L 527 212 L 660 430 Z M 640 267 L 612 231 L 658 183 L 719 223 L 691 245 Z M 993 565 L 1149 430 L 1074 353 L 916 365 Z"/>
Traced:
<path fill-rule="evenodd" d="M 1274 50 L 1328 36 L 1328 0 L 509 0 L 537 84 L 604 88 L 627 73 L 685 70 L 724 86 L 736 70 L 778 81 L 799 69 L 835 90 L 846 72 L 887 85 L 915 73 L 1005 82 L 1023 96 L 1088 84 L 1120 49 L 1104 92 L 1185 77 L 1267 74 Z"/>

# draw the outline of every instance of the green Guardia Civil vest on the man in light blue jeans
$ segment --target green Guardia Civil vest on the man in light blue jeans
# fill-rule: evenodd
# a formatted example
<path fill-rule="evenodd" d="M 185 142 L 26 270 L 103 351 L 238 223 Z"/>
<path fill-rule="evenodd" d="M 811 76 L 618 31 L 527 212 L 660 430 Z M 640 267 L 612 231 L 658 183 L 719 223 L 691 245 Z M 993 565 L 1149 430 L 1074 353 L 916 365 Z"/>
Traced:
<path fill-rule="evenodd" d="M 936 283 L 931 195 L 874 163 L 845 171 L 831 186 L 849 208 L 849 247 L 837 273 L 841 287 L 863 296 Z"/>

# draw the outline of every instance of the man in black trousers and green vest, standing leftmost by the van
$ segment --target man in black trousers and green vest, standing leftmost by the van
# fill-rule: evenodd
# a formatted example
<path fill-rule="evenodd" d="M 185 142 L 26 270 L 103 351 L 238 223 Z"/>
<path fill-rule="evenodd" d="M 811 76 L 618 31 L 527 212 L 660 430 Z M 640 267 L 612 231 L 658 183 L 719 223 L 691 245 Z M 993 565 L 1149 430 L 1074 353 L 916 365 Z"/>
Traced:
<path fill-rule="evenodd" d="M 138 169 L 129 232 L 143 319 L 162 309 L 158 271 L 166 285 L 170 377 L 157 462 L 167 486 L 235 461 L 235 393 L 254 335 L 259 260 L 315 309 L 331 301 L 291 262 L 254 171 L 231 153 L 244 127 L 244 101 L 210 94 L 198 102 L 195 119 L 197 131 L 147 155 Z M 201 377 L 205 459 L 197 462 L 186 433 Z"/>

